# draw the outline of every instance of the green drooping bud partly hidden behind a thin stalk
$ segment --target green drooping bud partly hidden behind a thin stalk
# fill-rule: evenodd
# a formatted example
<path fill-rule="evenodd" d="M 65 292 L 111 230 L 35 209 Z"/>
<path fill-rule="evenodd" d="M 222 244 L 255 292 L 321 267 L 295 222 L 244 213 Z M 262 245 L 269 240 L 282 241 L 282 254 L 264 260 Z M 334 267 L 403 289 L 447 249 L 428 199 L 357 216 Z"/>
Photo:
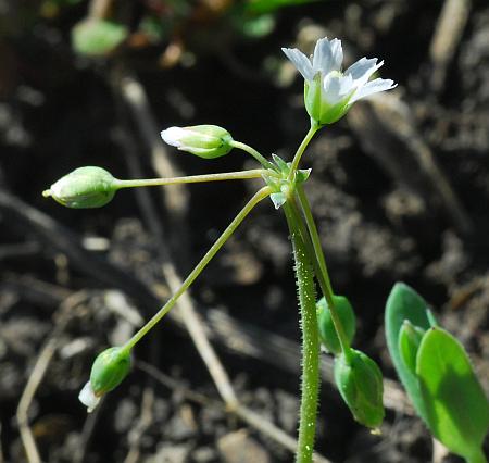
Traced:
<path fill-rule="evenodd" d="M 356 330 L 356 321 L 353 308 L 344 296 L 333 296 L 336 312 L 343 327 L 344 334 L 351 343 Z M 323 297 L 316 302 L 317 327 L 323 346 L 331 353 L 340 354 L 341 345 L 336 333 L 326 298 Z"/>

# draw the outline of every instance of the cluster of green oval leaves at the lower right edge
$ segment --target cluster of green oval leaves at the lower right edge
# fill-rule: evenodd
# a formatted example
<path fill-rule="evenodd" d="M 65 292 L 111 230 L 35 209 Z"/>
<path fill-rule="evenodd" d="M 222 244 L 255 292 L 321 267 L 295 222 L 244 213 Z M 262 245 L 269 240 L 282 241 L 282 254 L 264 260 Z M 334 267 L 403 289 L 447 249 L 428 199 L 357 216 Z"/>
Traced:
<path fill-rule="evenodd" d="M 463 346 L 436 326 L 425 300 L 408 285 L 394 285 L 387 300 L 386 337 L 398 375 L 432 435 L 466 461 L 486 462 L 486 395 Z"/>

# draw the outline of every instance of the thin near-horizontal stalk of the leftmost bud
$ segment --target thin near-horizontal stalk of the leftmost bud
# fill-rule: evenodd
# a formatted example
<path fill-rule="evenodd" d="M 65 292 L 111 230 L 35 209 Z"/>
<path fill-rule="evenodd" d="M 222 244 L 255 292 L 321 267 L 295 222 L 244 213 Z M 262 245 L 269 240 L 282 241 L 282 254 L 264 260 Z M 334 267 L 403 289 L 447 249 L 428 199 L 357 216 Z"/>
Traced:
<path fill-rule="evenodd" d="M 155 187 L 176 184 L 197 184 L 201 182 L 246 180 L 248 178 L 260 178 L 263 173 L 264 171 L 262 168 L 254 168 L 251 171 L 224 172 L 222 174 L 189 175 L 187 177 L 146 178 L 136 180 L 117 179 L 116 186 L 117 188 L 134 188 L 134 187 Z"/>

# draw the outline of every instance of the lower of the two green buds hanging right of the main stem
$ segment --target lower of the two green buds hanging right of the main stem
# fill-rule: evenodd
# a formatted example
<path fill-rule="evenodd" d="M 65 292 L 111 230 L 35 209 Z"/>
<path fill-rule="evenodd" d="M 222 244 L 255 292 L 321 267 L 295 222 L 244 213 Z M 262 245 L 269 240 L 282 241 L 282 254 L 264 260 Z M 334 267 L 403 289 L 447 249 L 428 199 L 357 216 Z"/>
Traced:
<path fill-rule="evenodd" d="M 383 374 L 363 352 L 352 349 L 348 363 L 341 354 L 335 359 L 335 383 L 353 417 L 362 425 L 378 429 L 384 420 Z"/>

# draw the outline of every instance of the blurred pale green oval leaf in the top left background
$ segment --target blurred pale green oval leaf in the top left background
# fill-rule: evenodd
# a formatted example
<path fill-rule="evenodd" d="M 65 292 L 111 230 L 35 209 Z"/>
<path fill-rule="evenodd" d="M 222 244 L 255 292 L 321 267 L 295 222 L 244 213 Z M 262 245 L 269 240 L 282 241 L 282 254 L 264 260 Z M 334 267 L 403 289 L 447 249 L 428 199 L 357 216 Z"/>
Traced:
<path fill-rule="evenodd" d="M 103 20 L 85 20 L 72 30 L 72 43 L 77 53 L 103 57 L 121 45 L 128 35 L 127 27 Z"/>

